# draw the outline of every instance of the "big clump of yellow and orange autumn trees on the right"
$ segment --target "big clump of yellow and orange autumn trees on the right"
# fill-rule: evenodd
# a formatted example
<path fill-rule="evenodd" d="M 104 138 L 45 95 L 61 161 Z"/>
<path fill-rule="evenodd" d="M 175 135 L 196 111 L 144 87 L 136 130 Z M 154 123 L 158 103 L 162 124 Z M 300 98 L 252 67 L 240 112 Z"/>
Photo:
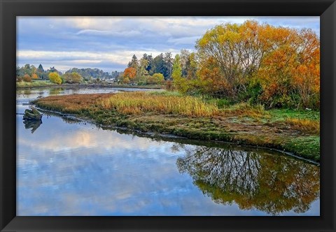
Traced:
<path fill-rule="evenodd" d="M 309 29 L 246 21 L 197 41 L 204 93 L 272 107 L 319 107 L 319 39 Z"/>

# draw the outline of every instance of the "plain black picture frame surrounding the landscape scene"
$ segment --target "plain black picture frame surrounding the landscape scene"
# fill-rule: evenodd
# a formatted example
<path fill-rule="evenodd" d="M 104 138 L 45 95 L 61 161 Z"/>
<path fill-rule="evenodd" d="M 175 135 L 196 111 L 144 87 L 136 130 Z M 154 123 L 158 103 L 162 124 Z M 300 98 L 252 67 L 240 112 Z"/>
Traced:
<path fill-rule="evenodd" d="M 335 0 L 0 0 L 1 231 L 335 231 Z M 321 19 L 321 216 L 16 217 L 15 75 L 17 16 L 239 15 Z"/>

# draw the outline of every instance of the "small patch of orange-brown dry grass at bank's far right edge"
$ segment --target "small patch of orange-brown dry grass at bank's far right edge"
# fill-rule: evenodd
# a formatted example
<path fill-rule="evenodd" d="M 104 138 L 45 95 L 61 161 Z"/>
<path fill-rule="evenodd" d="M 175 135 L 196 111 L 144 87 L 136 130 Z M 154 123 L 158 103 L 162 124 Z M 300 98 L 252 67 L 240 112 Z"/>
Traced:
<path fill-rule="evenodd" d="M 301 131 L 302 133 L 316 134 L 320 133 L 320 122 L 311 119 L 286 119 L 291 129 Z"/>

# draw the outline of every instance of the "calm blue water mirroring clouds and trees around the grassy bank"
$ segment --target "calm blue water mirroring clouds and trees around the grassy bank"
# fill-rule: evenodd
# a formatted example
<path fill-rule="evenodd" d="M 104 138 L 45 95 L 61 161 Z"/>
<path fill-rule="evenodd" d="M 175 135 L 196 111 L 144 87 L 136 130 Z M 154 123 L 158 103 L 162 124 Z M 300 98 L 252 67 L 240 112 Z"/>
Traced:
<path fill-rule="evenodd" d="M 38 96 L 120 89 L 17 92 Z M 131 89 L 132 90 L 132 89 Z M 319 215 L 319 167 L 276 152 L 17 115 L 17 215 Z"/>

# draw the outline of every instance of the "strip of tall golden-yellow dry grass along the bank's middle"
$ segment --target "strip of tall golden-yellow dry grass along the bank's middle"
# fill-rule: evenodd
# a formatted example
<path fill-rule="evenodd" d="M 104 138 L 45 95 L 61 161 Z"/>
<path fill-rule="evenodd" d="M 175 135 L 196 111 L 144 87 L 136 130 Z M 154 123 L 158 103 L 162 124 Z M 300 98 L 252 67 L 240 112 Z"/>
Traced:
<path fill-rule="evenodd" d="M 109 99 L 104 99 L 102 106 L 127 115 L 155 112 L 165 115 L 211 117 L 219 113 L 215 103 L 204 103 L 200 98 L 192 96 L 154 96 L 145 92 L 115 94 Z"/>

